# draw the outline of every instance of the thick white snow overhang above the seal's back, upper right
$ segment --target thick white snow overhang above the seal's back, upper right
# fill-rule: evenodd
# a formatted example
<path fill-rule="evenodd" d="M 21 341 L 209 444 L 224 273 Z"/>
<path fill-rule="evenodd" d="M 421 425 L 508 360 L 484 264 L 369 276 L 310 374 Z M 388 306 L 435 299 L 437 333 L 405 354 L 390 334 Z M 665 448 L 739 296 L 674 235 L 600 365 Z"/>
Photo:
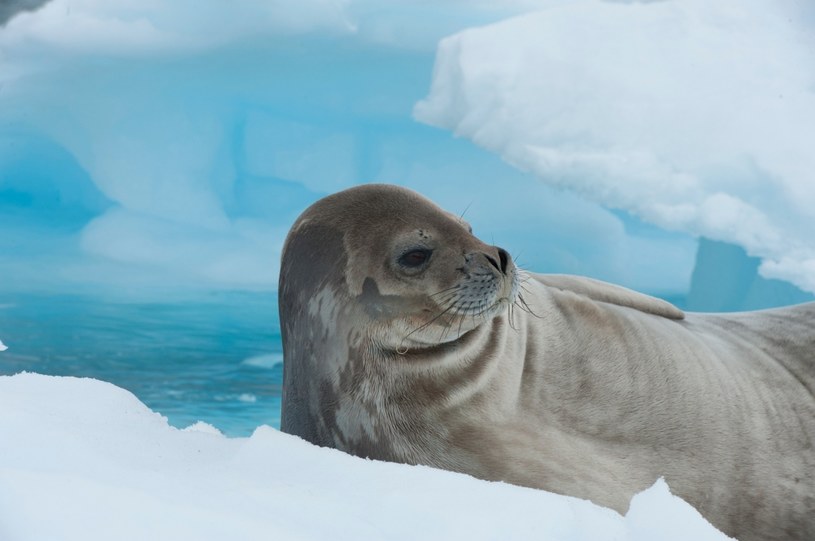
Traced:
<path fill-rule="evenodd" d="M 551 2 L 442 40 L 414 114 L 815 292 L 815 9 Z"/>

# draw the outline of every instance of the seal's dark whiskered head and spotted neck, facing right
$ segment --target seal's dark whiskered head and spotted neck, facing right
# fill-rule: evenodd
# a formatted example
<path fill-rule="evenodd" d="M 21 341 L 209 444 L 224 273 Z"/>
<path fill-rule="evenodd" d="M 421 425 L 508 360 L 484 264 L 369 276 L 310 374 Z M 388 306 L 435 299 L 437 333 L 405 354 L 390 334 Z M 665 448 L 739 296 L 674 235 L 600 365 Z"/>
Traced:
<path fill-rule="evenodd" d="M 387 438 L 374 437 L 362 409 L 393 391 L 371 376 L 390 380 L 389 362 L 444 358 L 518 291 L 505 250 L 415 192 L 372 184 L 318 201 L 283 248 L 282 429 L 345 449 L 350 432 L 362 437 L 357 454 L 370 452 Z"/>

